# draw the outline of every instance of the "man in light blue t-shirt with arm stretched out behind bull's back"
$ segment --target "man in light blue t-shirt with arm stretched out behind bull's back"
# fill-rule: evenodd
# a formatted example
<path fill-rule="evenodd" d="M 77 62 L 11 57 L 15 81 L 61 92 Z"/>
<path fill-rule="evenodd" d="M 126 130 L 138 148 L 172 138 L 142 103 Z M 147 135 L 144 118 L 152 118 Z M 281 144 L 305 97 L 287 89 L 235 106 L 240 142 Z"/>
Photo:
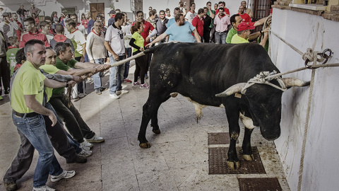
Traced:
<path fill-rule="evenodd" d="M 162 33 L 162 35 L 155 38 L 155 40 L 146 45 L 146 47 L 151 47 L 153 44 L 160 42 L 160 40 L 164 39 L 168 35 L 172 35 L 173 40 L 179 42 L 194 42 L 194 37 L 196 38 L 196 42 L 201 42 L 201 38 L 194 26 L 185 21 L 185 18 L 181 13 L 177 14 L 174 18 L 175 24 L 167 28 L 165 33 Z M 192 33 L 194 33 L 194 36 Z"/>

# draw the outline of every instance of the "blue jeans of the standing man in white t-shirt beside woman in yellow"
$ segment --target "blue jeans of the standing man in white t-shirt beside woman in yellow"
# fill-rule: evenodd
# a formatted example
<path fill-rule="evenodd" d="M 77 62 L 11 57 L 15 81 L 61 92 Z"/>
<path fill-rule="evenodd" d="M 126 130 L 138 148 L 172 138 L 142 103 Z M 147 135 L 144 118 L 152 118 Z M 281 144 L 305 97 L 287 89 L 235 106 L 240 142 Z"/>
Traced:
<path fill-rule="evenodd" d="M 125 59 L 124 56 L 119 56 L 119 61 Z M 113 55 L 109 56 L 110 64 L 114 64 L 118 62 L 114 59 Z M 115 94 L 115 91 L 120 91 L 122 89 L 121 83 L 124 80 L 124 70 L 125 64 L 121 64 L 119 66 L 114 66 L 111 68 L 111 73 L 109 74 L 109 94 Z"/>

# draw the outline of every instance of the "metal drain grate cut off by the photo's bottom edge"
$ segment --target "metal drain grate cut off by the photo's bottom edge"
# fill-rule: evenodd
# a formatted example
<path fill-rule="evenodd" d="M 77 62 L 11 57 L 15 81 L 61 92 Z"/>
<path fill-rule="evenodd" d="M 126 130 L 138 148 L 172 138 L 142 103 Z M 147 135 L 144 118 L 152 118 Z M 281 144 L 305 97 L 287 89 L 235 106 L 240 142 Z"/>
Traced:
<path fill-rule="evenodd" d="M 240 191 L 282 191 L 278 178 L 238 178 Z"/>

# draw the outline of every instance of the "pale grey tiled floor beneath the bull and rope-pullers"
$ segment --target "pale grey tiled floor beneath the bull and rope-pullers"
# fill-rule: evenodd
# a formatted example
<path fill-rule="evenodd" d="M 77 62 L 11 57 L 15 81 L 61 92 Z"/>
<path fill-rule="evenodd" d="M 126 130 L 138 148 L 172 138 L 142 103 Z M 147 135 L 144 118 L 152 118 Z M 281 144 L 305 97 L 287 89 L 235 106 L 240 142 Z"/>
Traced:
<path fill-rule="evenodd" d="M 133 80 L 133 68 L 130 77 Z M 107 76 L 103 83 L 108 87 Z M 237 178 L 278 178 L 283 190 L 290 190 L 273 141 L 263 139 L 258 129 L 251 143 L 258 147 L 266 174 L 208 174 L 208 133 L 228 131 L 225 110 L 204 108 L 203 118 L 197 123 L 194 106 L 186 98 L 170 98 L 158 112 L 161 134 L 153 134 L 148 128 L 146 137 L 151 148 L 141 149 L 137 136 L 148 90 L 124 84 L 129 93 L 111 100 L 109 91 L 98 96 L 93 83 L 87 86 L 88 96 L 74 105 L 89 127 L 106 141 L 95 144 L 93 156 L 84 164 L 67 164 L 57 154 L 61 166 L 76 170 L 76 176 L 57 183 L 48 181 L 47 185 L 57 190 L 239 190 Z M 10 114 L 9 103 L 0 105 L 0 190 L 4 190 L 2 176 L 20 145 Z M 241 146 L 242 136 L 237 146 Z M 19 190 L 32 190 L 37 156 L 28 173 L 18 180 Z"/>

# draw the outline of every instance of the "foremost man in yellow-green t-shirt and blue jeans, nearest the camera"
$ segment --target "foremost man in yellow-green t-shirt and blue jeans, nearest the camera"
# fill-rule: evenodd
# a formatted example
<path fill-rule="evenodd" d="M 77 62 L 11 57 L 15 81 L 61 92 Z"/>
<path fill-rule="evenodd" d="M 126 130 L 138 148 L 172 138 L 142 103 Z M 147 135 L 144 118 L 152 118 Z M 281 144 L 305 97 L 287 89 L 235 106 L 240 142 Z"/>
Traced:
<path fill-rule="evenodd" d="M 52 175 L 52 182 L 55 182 L 62 178 L 73 177 L 75 171 L 63 170 L 54 156 L 54 149 L 47 135 L 42 115 L 48 116 L 47 119 L 52 123 L 52 126 L 57 123 L 57 117 L 52 110 L 42 105 L 44 103 L 44 86 L 59 88 L 74 84 L 74 81 L 59 82 L 47 79 L 42 75 L 39 67 L 45 62 L 44 42 L 28 40 L 24 50 L 27 61 L 16 74 L 11 91 L 12 118 L 17 129 L 27 137 L 39 153 L 33 178 L 33 190 L 51 190 L 46 185 L 49 174 Z"/>

